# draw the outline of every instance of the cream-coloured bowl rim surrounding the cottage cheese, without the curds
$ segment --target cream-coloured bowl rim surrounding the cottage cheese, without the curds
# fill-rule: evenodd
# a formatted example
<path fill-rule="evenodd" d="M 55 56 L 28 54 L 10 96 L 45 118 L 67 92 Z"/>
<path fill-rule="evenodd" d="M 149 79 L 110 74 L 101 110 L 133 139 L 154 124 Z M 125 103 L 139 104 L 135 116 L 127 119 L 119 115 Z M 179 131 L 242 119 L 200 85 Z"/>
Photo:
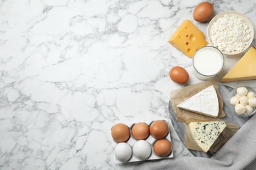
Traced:
<path fill-rule="evenodd" d="M 234 52 L 226 52 L 224 50 L 221 50 L 221 52 L 223 54 L 226 54 L 228 56 L 232 56 L 232 55 L 237 55 L 237 54 L 241 54 L 242 52 L 244 52 L 245 50 L 247 50 L 247 48 L 249 48 L 249 46 L 251 46 L 251 42 L 253 42 L 253 37 L 254 37 L 254 29 L 253 29 L 253 25 L 251 24 L 250 20 L 244 16 L 243 14 L 240 14 L 239 12 L 235 12 L 235 11 L 226 11 L 226 12 L 221 12 L 220 14 L 217 14 L 212 20 L 211 22 L 209 22 L 209 25 L 207 27 L 207 37 L 208 37 L 208 41 L 209 44 L 211 44 L 212 46 L 215 46 L 213 44 L 213 42 L 211 41 L 211 35 L 210 35 L 210 29 L 211 26 L 219 19 L 219 18 L 223 18 L 223 16 L 227 14 L 228 16 L 238 16 L 239 18 L 242 18 L 242 20 L 244 20 L 244 22 L 248 25 L 249 30 L 251 31 L 251 39 L 249 39 L 249 43 L 245 46 L 245 48 L 242 51 L 234 51 Z M 217 46 L 215 46 L 217 47 Z M 218 48 L 218 47 L 217 47 Z"/>

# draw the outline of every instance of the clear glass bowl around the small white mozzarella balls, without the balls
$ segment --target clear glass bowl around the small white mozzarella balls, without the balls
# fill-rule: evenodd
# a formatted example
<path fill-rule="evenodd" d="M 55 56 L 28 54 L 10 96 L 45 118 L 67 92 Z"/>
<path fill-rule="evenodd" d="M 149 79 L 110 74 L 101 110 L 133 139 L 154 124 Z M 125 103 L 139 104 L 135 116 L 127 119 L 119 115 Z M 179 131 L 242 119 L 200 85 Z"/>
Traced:
<path fill-rule="evenodd" d="M 236 114 L 237 116 L 242 116 L 242 117 L 249 117 L 249 116 L 252 116 L 253 114 L 256 113 L 256 107 L 253 107 L 253 111 L 252 111 L 251 113 L 249 113 L 249 114 L 246 114 L 246 113 L 244 113 L 244 114 L 237 114 L 237 113 L 236 113 L 236 110 L 235 110 L 235 106 L 232 105 L 232 104 L 230 104 L 230 98 L 236 95 L 236 93 L 237 93 L 236 90 L 237 90 L 238 88 L 240 88 L 240 87 L 245 87 L 245 88 L 247 88 L 248 92 L 253 92 L 254 95 L 256 96 L 256 91 L 255 91 L 253 88 L 251 88 L 251 87 L 249 87 L 249 86 L 239 86 L 239 87 L 237 87 L 237 88 L 234 88 L 234 90 L 232 90 L 232 92 L 230 92 L 230 95 L 228 96 L 228 107 L 229 107 L 229 109 L 232 110 L 232 113 Z"/>

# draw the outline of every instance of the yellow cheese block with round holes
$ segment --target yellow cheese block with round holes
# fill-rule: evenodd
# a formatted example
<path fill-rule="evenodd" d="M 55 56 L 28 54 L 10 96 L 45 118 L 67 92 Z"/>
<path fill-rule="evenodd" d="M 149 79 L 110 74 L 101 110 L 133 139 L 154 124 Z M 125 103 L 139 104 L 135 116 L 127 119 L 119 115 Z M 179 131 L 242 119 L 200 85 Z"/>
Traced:
<path fill-rule="evenodd" d="M 196 50 L 208 43 L 205 41 L 202 31 L 190 20 L 185 20 L 168 42 L 190 58 L 194 56 Z"/>

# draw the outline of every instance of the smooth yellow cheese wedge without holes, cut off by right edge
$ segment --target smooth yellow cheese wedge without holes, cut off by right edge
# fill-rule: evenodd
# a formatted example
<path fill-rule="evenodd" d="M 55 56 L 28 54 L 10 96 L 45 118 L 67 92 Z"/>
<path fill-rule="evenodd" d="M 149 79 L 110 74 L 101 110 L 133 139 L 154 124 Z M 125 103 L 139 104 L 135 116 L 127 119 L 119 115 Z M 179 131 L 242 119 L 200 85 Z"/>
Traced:
<path fill-rule="evenodd" d="M 256 79 L 256 48 L 251 46 L 245 55 L 223 77 L 221 82 L 234 82 Z"/>

